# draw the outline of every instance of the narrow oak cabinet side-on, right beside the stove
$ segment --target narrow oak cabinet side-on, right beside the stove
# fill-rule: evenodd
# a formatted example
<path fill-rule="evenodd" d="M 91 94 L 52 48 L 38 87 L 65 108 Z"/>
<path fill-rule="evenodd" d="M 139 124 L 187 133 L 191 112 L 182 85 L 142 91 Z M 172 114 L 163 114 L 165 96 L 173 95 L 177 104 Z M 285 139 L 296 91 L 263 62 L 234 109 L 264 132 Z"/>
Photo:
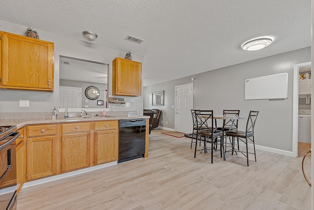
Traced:
<path fill-rule="evenodd" d="M 20 132 L 20 136 L 16 140 L 16 182 L 17 191 L 18 194 L 20 194 L 23 184 L 26 182 L 26 147 L 24 141 L 24 127 L 17 131 Z"/>

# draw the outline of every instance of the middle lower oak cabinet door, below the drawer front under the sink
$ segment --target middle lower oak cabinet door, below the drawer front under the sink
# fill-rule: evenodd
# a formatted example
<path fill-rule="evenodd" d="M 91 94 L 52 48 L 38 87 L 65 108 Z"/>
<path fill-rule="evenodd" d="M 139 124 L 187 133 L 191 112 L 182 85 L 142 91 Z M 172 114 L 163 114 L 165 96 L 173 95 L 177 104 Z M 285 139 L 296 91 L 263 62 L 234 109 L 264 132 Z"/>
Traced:
<path fill-rule="evenodd" d="M 62 172 L 90 166 L 90 133 L 62 135 Z"/>

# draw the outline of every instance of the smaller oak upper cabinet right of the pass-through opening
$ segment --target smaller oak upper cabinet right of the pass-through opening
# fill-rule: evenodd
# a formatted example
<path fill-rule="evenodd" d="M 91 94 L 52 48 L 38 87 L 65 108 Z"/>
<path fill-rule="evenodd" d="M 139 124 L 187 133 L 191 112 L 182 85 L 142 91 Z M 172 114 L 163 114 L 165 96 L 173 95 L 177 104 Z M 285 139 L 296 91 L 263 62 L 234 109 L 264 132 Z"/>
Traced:
<path fill-rule="evenodd" d="M 142 63 L 116 58 L 112 61 L 112 95 L 140 96 Z"/>

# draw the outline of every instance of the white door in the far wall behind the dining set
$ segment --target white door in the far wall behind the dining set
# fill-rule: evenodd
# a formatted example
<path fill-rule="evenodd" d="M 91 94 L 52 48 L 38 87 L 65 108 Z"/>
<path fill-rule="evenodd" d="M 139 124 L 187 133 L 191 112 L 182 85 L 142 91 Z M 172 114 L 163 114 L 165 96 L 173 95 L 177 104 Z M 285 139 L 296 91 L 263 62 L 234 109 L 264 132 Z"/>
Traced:
<path fill-rule="evenodd" d="M 177 132 L 192 132 L 191 109 L 193 104 L 193 83 L 175 87 L 176 91 L 176 120 Z"/>

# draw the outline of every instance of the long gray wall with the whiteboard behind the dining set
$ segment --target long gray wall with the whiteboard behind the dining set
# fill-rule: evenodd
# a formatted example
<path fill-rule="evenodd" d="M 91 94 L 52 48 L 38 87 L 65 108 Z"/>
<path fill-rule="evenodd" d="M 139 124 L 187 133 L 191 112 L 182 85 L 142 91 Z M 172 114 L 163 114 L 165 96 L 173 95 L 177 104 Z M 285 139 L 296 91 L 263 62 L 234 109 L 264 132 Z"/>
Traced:
<path fill-rule="evenodd" d="M 144 108 L 155 108 L 151 106 L 151 93 L 164 90 L 165 105 L 159 107 L 163 111 L 163 123 L 159 125 L 174 129 L 175 86 L 193 83 L 194 109 L 212 109 L 220 115 L 224 109 L 239 109 L 240 115 L 246 117 L 250 110 L 258 110 L 256 144 L 292 151 L 293 65 L 307 61 L 311 61 L 311 47 L 147 86 L 144 87 Z M 288 99 L 244 100 L 245 79 L 284 72 L 288 72 Z M 239 120 L 240 129 L 245 124 L 246 120 Z"/>

